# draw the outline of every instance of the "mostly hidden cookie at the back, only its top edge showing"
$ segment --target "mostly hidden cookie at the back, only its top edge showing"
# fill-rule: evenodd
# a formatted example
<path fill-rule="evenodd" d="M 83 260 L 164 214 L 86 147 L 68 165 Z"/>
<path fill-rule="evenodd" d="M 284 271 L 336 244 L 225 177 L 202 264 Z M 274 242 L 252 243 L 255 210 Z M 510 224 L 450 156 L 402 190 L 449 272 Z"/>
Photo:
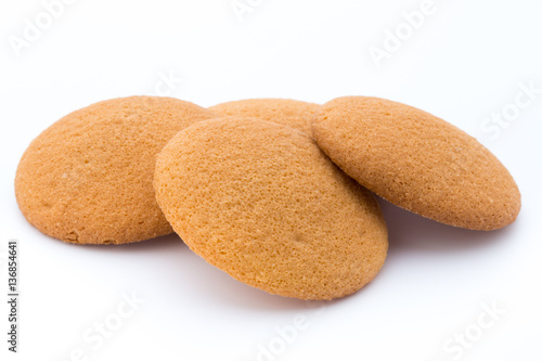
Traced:
<path fill-rule="evenodd" d="M 319 104 L 292 99 L 247 99 L 209 107 L 223 116 L 258 118 L 289 126 L 310 134 L 310 123 L 320 111 Z"/>

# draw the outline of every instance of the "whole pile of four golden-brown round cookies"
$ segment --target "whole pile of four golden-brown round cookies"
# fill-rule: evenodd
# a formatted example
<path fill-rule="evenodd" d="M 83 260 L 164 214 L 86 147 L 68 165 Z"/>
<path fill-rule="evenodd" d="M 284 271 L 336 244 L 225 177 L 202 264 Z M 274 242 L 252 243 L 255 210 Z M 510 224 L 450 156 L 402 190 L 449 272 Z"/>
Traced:
<path fill-rule="evenodd" d="M 503 228 L 520 208 L 514 179 L 474 138 L 366 96 L 104 101 L 44 130 L 15 178 L 22 212 L 47 235 L 124 244 L 175 231 L 238 281 L 302 299 L 354 293 L 384 265 L 372 192 L 470 230 Z"/>

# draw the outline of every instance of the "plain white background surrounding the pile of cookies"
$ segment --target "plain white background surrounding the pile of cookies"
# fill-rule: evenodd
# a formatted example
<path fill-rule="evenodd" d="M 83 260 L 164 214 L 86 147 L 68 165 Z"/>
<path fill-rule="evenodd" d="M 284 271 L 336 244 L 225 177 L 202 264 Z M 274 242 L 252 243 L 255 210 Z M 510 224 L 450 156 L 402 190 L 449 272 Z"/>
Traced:
<path fill-rule="evenodd" d="M 251 11 L 240 18 L 231 0 L 77 0 L 48 24 L 41 1 L 0 0 L 0 280 L 5 295 L 7 242 L 16 238 L 22 294 L 17 354 L 7 350 L 1 301 L 1 359 L 542 359 L 542 94 L 522 90 L 542 89 L 542 3 L 435 0 L 412 30 L 402 13 L 422 2 L 242 0 Z M 37 17 L 43 29 L 17 56 L 12 43 L 26 41 L 26 20 Z M 397 29 L 399 49 L 387 43 L 377 64 L 370 49 Z M 169 87 L 165 76 L 176 78 Z M 238 283 L 175 235 L 76 246 L 30 227 L 13 191 L 28 143 L 79 107 L 156 91 L 203 106 L 353 94 L 418 106 L 486 144 L 515 177 L 522 209 L 504 230 L 473 232 L 383 202 L 386 265 L 369 286 L 323 308 Z M 519 109 L 516 96 L 530 103 Z M 509 121 L 491 123 L 503 111 Z M 96 323 L 118 321 L 132 292 L 145 302 L 103 344 L 85 340 Z M 488 307 L 504 314 L 492 320 Z M 294 332 L 296 315 L 306 322 Z M 459 346 L 465 332 L 468 346 Z"/>

